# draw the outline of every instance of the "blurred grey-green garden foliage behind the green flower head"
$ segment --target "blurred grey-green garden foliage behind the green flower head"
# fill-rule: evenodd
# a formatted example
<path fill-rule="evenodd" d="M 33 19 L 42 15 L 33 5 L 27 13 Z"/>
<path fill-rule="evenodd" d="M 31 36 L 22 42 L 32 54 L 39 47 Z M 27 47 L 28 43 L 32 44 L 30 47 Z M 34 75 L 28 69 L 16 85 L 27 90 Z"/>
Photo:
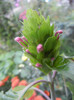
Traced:
<path fill-rule="evenodd" d="M 21 36 L 20 13 L 28 8 L 38 12 L 40 10 L 45 18 L 49 15 L 51 23 L 55 23 L 55 31 L 63 30 L 61 53 L 74 56 L 74 0 L 0 0 L 0 81 L 7 75 L 11 77 L 18 75 L 28 82 L 39 76 L 46 78 L 43 73 L 32 67 L 21 52 L 23 50 L 19 44 L 14 41 L 16 36 Z M 58 97 L 63 100 L 73 100 L 74 82 L 71 79 L 64 79 L 57 74 L 55 83 Z M 10 86 L 7 90 L 6 88 L 7 85 L 5 88 L 0 87 L 0 91 L 7 91 Z M 48 87 L 43 84 L 41 88 Z"/>

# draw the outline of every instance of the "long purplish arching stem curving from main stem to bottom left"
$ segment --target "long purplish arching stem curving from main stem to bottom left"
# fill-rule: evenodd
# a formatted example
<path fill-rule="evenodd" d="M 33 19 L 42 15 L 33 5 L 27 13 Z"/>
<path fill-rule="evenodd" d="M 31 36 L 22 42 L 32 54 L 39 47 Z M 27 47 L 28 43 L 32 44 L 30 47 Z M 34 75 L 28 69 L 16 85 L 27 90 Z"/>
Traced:
<path fill-rule="evenodd" d="M 40 83 L 40 82 L 45 82 L 45 83 L 49 83 L 51 84 L 49 81 L 46 81 L 46 80 L 38 80 L 38 81 L 34 81 L 32 83 L 30 83 L 28 86 L 26 86 L 22 92 L 20 93 L 19 97 L 18 97 L 18 100 L 20 100 L 20 98 L 27 92 L 27 90 L 32 87 L 33 85 L 37 84 L 37 83 Z"/>

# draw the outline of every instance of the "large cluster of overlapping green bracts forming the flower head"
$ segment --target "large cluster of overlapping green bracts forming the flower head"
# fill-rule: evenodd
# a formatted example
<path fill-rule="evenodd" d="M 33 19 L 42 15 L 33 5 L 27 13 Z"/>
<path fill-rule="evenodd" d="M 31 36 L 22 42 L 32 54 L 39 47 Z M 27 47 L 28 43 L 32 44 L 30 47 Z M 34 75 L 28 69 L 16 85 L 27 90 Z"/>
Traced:
<path fill-rule="evenodd" d="M 59 55 L 60 40 L 57 40 L 57 36 L 54 35 L 54 25 L 50 25 L 49 17 L 45 19 L 31 9 L 27 10 L 26 17 L 27 20 L 23 22 L 22 34 L 28 40 L 26 49 L 31 54 L 27 52 L 25 54 L 30 58 L 32 65 L 41 64 L 42 67 L 38 67 L 38 69 L 45 74 L 51 70 L 63 69 L 68 61 Z M 37 52 L 38 44 L 42 44 L 44 48 L 40 53 Z M 52 58 L 54 58 L 53 61 Z"/>

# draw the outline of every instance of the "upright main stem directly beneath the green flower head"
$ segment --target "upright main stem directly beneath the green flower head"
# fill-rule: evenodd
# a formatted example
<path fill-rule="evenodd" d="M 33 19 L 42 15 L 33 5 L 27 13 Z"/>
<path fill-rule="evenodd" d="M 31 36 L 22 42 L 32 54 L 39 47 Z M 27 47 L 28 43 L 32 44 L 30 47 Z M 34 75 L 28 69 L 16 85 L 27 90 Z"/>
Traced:
<path fill-rule="evenodd" d="M 54 91 L 54 81 L 52 80 L 51 73 L 49 73 L 48 78 L 49 78 L 50 83 L 51 83 L 51 85 L 50 85 L 51 100 L 56 100 L 55 91 Z"/>

